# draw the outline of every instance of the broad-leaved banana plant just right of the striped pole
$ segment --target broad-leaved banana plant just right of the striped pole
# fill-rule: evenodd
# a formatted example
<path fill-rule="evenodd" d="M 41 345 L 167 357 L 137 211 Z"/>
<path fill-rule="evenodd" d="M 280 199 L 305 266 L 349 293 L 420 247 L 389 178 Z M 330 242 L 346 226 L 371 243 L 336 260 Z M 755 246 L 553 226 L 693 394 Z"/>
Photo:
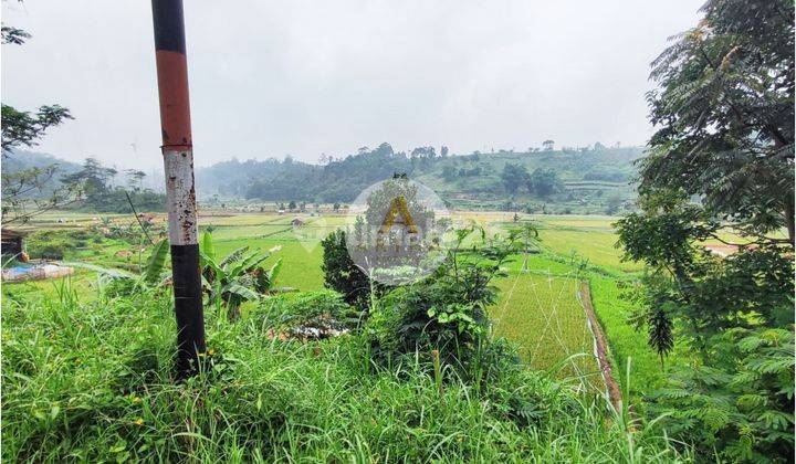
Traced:
<path fill-rule="evenodd" d="M 240 306 L 243 302 L 259 299 L 273 287 L 274 280 L 282 268 L 282 259 L 269 268 L 262 263 L 280 247 L 275 246 L 265 253 L 241 246 L 223 259 L 216 256 L 212 234 L 205 232 L 199 246 L 199 256 L 202 270 L 202 291 L 211 305 L 227 308 L 230 320 L 240 317 Z"/>

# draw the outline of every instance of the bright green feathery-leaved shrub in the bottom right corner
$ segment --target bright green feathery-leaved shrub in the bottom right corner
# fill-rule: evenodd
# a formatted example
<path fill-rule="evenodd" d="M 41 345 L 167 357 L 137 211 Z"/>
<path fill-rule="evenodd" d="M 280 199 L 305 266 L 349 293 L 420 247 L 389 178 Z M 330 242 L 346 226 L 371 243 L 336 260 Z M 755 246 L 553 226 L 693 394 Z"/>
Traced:
<path fill-rule="evenodd" d="M 720 461 L 792 462 L 793 327 L 734 328 L 710 347 L 710 365 L 677 369 L 651 396 L 661 426 Z"/>

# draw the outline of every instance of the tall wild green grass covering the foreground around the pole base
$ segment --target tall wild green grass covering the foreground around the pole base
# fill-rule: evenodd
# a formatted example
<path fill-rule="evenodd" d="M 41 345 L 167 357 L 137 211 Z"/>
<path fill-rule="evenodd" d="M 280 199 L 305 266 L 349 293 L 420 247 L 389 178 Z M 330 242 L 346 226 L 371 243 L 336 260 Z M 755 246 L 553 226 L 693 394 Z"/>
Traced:
<path fill-rule="evenodd" d="M 212 368 L 176 384 L 170 295 L 6 295 L 4 461 L 671 462 L 603 399 L 520 365 L 443 392 L 418 366 L 387 371 L 359 335 L 279 341 L 259 309 L 209 310 Z M 688 456 L 687 456 L 688 457 Z"/>

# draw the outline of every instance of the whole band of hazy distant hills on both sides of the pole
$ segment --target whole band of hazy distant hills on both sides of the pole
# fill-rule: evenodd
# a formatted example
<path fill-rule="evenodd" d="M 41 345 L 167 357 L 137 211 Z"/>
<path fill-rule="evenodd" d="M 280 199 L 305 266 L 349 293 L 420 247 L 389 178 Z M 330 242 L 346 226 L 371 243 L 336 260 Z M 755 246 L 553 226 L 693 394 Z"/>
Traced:
<path fill-rule="evenodd" d="M 308 164 L 287 156 L 240 161 L 232 159 L 197 170 L 202 201 L 245 199 L 270 202 L 347 203 L 377 181 L 406 173 L 462 208 L 531 209 L 552 212 L 612 212 L 635 198 L 629 182 L 640 147 L 496 150 L 452 155 L 447 147 L 396 151 L 385 143 L 363 147 L 342 158 Z M 161 210 L 164 198 L 147 188 L 151 180 L 138 170 L 117 172 L 94 159 L 82 165 L 43 154 L 13 154 L 3 160 L 3 175 L 57 164 L 57 173 L 41 191 L 67 183 L 80 186 L 82 209 L 129 210 L 125 191 L 143 211 Z M 594 182 L 584 186 L 579 182 Z M 603 183 L 600 183 L 603 182 Z M 628 203 L 629 204 L 629 203 Z M 556 205 L 549 209 L 551 205 Z"/>

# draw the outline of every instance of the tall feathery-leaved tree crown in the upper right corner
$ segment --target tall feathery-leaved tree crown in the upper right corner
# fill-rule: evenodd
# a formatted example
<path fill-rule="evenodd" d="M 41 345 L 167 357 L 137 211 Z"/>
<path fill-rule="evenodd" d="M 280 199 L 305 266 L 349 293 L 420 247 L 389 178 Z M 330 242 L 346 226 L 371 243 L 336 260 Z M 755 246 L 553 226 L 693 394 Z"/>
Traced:
<path fill-rule="evenodd" d="M 641 190 L 682 189 L 756 241 L 794 243 L 794 4 L 710 0 L 653 62 Z M 754 12 L 754 13 L 751 13 Z"/>

